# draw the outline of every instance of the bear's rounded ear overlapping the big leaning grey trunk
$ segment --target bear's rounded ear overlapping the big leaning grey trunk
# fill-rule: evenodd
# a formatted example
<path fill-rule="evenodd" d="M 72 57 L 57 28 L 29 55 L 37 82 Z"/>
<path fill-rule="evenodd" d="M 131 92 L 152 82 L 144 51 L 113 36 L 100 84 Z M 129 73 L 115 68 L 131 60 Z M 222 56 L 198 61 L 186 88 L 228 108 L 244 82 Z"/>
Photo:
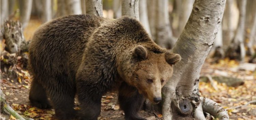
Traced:
<path fill-rule="evenodd" d="M 179 54 L 171 53 L 171 51 L 167 51 L 165 53 L 165 60 L 168 64 L 174 65 L 175 63 L 181 61 L 181 56 Z"/>

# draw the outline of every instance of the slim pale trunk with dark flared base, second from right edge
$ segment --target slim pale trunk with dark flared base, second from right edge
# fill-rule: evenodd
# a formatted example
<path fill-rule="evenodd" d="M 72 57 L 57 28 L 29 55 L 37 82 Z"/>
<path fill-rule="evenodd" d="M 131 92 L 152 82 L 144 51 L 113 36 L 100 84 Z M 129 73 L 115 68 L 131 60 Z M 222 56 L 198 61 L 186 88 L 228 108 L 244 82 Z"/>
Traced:
<path fill-rule="evenodd" d="M 244 47 L 244 32 L 245 32 L 245 15 L 246 15 L 246 0 L 239 0 L 239 22 L 236 31 L 236 35 L 232 40 L 228 50 L 227 56 L 231 59 L 239 59 L 241 61 L 245 58 Z"/>

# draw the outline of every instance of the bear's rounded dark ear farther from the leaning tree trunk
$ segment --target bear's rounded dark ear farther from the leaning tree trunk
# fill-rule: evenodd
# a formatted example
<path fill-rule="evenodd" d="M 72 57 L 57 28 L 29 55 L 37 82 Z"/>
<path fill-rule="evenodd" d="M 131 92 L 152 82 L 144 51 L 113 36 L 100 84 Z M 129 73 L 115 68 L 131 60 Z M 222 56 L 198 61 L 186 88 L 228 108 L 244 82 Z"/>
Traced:
<path fill-rule="evenodd" d="M 134 48 L 133 57 L 138 60 L 145 60 L 147 58 L 147 49 L 141 45 Z"/>

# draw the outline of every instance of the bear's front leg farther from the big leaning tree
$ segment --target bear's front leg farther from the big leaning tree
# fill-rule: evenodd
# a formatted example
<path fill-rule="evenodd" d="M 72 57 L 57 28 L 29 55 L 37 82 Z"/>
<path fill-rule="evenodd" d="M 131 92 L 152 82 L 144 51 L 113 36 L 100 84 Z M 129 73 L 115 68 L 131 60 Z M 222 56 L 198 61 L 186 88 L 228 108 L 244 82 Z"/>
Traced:
<path fill-rule="evenodd" d="M 80 102 L 80 120 L 97 120 L 101 111 L 102 94 L 97 92 L 97 88 L 85 85 L 84 81 L 77 82 L 77 96 Z M 82 86 L 81 86 L 82 85 Z"/>

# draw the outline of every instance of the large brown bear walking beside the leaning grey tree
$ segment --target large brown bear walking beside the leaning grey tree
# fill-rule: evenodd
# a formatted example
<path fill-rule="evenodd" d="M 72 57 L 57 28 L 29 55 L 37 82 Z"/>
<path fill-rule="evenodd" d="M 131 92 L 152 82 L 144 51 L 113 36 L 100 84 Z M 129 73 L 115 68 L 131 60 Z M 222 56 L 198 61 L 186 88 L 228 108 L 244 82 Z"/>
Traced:
<path fill-rule="evenodd" d="M 136 19 L 89 15 L 42 25 L 29 53 L 33 75 L 29 100 L 39 108 L 52 105 L 60 120 L 75 117 L 75 95 L 79 119 L 97 120 L 101 97 L 112 90 L 119 92 L 126 120 L 145 120 L 138 115 L 144 98 L 161 101 L 161 87 L 172 76 L 173 64 L 181 60 L 159 47 Z"/>

